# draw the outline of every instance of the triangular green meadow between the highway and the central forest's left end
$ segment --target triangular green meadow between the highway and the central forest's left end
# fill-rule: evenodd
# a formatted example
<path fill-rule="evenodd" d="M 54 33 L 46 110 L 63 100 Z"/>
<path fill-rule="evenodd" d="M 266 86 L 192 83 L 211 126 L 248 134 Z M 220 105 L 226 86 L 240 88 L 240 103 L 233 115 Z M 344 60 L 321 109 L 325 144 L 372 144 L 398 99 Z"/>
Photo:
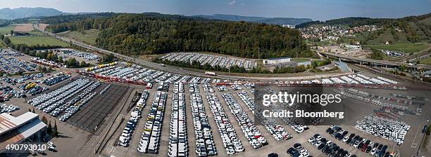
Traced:
<path fill-rule="evenodd" d="M 97 36 L 99 36 L 100 31 L 98 29 L 89 29 L 85 32 L 76 32 L 76 31 L 66 31 L 58 33 L 60 36 L 65 36 L 70 39 L 75 39 L 77 41 L 82 41 L 84 43 L 88 43 L 90 45 L 96 44 Z"/>

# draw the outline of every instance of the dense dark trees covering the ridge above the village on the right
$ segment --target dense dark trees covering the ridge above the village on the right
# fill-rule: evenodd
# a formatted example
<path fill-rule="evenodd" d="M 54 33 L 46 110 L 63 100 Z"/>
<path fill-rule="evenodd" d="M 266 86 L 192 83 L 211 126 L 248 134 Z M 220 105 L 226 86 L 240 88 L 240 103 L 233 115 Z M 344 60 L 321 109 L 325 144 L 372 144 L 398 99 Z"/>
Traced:
<path fill-rule="evenodd" d="M 431 23 L 424 22 L 425 19 L 430 19 L 431 13 L 418 16 L 408 16 L 405 18 L 340 18 L 335 20 L 327 20 L 326 22 L 313 21 L 296 25 L 296 28 L 310 27 L 312 25 L 349 25 L 349 27 L 358 27 L 362 25 L 377 25 L 383 27 L 380 32 L 375 32 L 368 36 L 368 41 L 376 39 L 377 36 L 389 29 L 395 38 L 398 36 L 394 30 L 395 27 L 402 30 L 406 35 L 406 39 L 412 43 L 430 41 L 431 40 Z M 428 20 L 429 21 L 429 20 Z"/>

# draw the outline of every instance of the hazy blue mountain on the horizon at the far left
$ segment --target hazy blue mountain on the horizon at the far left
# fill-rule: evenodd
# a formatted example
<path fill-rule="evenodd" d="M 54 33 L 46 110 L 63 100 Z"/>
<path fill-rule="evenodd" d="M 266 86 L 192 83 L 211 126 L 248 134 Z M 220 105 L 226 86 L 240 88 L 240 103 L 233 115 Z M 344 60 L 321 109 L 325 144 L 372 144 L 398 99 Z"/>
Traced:
<path fill-rule="evenodd" d="M 54 8 L 1 8 L 0 19 L 13 20 L 17 18 L 41 17 L 67 14 Z"/>

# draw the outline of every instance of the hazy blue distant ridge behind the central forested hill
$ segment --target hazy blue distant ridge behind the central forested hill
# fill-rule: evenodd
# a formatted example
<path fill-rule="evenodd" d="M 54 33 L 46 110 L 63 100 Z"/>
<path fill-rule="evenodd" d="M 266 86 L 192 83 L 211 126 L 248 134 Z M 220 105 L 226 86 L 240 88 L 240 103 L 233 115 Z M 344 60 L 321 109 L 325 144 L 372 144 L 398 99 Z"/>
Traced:
<path fill-rule="evenodd" d="M 313 21 L 309 18 L 265 18 L 265 17 L 225 15 L 225 14 L 193 15 L 193 16 L 214 19 L 214 20 L 246 21 L 246 22 L 258 22 L 258 23 L 266 23 L 266 24 L 274 24 L 274 25 L 299 25 L 304 22 Z"/>

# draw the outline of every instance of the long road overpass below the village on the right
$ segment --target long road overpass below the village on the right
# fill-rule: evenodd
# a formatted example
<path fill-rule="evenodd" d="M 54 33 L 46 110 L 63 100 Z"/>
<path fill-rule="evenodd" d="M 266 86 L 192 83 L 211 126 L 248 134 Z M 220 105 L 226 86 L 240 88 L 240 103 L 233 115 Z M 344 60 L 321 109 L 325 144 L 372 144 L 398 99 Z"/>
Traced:
<path fill-rule="evenodd" d="M 375 65 L 375 66 L 380 66 L 380 67 L 399 67 L 399 66 L 401 66 L 401 64 L 404 64 L 404 65 L 406 65 L 406 67 L 409 67 L 409 68 L 431 69 L 431 66 L 423 65 L 423 64 L 406 64 L 403 62 L 390 62 L 390 61 L 386 61 L 386 60 L 371 60 L 368 58 L 358 58 L 358 57 L 351 57 L 351 56 L 346 56 L 346 55 L 339 55 L 339 54 L 325 53 L 325 52 L 320 52 L 320 55 L 323 55 L 326 57 L 336 58 L 336 59 L 339 59 L 339 60 L 342 60 L 345 62 L 355 62 L 358 64 L 369 64 L 369 65 Z"/>

